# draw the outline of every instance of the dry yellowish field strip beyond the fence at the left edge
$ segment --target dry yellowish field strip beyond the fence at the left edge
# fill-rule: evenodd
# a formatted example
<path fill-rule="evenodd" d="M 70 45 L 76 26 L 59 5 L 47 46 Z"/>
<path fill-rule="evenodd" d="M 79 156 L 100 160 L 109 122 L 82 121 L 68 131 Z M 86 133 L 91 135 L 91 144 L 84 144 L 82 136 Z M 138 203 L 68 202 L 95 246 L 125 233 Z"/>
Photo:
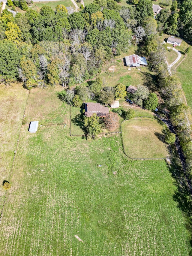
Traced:
<path fill-rule="evenodd" d="M 21 84 L 0 85 L 0 182 L 9 179 L 14 151 L 19 138 L 21 122 L 29 91 Z M 0 210 L 4 200 L 4 189 L 0 186 Z"/>

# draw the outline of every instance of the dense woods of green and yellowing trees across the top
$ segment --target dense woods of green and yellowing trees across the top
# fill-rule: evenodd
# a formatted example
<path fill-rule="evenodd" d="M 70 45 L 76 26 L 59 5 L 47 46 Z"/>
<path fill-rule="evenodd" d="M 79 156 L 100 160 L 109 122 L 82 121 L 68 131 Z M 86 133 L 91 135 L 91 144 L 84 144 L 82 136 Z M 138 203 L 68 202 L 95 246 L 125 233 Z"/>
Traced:
<path fill-rule="evenodd" d="M 13 18 L 5 9 L 0 17 L 0 76 L 4 83 L 21 80 L 27 89 L 56 83 L 71 87 L 95 77 L 105 60 L 128 49 L 132 35 L 136 44 L 145 42 L 151 68 L 156 70 L 164 47 L 157 31 L 188 40 L 192 33 L 191 0 L 179 2 L 179 12 L 173 1 L 171 11 L 164 8 L 156 20 L 151 0 L 140 0 L 133 7 L 94 0 L 72 14 L 63 5 L 56 11 L 43 6 L 37 12 L 29 10 L 30 1 L 10 1 L 13 4 L 26 13 Z"/>

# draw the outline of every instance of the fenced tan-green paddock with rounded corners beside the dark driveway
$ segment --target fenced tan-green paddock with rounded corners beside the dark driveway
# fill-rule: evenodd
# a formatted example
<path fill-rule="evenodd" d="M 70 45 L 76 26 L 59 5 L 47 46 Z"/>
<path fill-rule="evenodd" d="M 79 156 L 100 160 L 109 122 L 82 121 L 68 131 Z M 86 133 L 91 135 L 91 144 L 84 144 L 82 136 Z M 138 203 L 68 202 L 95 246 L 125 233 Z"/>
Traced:
<path fill-rule="evenodd" d="M 167 158 L 169 152 L 163 140 L 163 126 L 151 118 L 136 118 L 122 123 L 126 154 L 131 158 Z"/>

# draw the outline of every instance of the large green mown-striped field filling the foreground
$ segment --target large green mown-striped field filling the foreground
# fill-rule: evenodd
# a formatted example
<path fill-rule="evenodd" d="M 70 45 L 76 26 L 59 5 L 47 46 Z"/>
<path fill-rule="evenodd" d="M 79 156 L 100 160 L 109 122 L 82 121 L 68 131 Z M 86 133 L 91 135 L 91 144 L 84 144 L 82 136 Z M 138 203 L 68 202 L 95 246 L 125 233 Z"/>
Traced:
<path fill-rule="evenodd" d="M 165 161 L 129 161 L 119 136 L 88 143 L 62 126 L 27 130 L 1 219 L 1 255 L 189 254 Z"/>

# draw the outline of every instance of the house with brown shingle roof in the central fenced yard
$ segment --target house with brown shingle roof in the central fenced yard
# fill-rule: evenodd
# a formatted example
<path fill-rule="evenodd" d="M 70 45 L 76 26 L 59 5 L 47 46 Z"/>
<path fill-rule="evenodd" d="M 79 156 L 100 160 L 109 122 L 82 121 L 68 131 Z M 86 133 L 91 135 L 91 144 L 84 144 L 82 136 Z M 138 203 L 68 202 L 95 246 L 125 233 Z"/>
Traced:
<path fill-rule="evenodd" d="M 100 103 L 87 102 L 85 103 L 85 116 L 92 116 L 94 113 L 97 116 L 105 117 L 109 114 L 108 106 L 102 106 Z"/>

